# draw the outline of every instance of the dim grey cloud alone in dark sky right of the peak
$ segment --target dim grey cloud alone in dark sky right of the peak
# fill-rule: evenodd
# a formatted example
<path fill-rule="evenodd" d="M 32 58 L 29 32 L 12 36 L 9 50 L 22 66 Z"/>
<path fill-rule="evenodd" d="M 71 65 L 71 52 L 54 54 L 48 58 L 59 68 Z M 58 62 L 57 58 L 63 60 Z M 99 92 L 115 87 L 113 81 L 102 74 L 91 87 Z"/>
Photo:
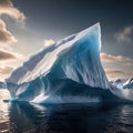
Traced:
<path fill-rule="evenodd" d="M 119 42 L 132 42 L 133 41 L 133 25 L 125 27 L 122 31 L 115 34 L 115 39 Z"/>

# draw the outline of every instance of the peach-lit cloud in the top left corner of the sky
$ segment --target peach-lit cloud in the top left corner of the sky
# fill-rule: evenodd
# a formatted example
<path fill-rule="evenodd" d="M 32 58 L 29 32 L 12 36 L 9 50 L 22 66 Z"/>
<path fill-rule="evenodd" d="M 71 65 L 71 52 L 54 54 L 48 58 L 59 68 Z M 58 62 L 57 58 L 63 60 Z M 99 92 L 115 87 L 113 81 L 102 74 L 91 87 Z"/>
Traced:
<path fill-rule="evenodd" d="M 0 14 L 7 14 L 20 22 L 24 22 L 25 20 L 23 12 L 17 9 L 11 0 L 0 0 Z"/>

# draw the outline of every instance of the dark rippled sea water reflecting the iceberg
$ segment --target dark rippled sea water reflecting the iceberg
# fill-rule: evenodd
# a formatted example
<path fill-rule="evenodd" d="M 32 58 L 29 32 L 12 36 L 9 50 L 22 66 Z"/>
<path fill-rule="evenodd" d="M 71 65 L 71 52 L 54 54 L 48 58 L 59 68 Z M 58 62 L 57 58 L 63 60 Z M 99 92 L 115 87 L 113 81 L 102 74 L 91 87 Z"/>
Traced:
<path fill-rule="evenodd" d="M 0 133 L 133 133 L 133 104 L 39 105 L 2 102 Z"/>

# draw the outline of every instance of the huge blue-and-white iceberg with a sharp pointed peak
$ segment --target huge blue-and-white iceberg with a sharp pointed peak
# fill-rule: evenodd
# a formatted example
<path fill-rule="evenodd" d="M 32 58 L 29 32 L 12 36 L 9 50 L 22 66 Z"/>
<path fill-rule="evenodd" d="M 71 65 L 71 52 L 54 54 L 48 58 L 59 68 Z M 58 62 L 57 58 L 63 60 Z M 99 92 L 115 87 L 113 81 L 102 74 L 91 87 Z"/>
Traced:
<path fill-rule="evenodd" d="M 98 101 L 95 93 L 99 88 L 110 88 L 100 51 L 100 23 L 44 47 L 6 80 L 11 99 L 33 102 Z M 94 99 L 89 99 L 92 95 Z"/>

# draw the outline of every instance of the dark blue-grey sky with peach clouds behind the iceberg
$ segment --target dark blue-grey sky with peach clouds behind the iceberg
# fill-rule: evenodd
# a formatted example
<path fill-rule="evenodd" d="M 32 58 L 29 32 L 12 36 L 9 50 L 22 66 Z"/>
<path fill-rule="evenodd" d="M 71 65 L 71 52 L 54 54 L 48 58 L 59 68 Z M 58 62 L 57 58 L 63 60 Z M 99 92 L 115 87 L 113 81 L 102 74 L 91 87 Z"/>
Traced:
<path fill-rule="evenodd" d="M 0 81 L 45 44 L 96 22 L 109 80 L 133 76 L 132 0 L 0 0 Z"/>

